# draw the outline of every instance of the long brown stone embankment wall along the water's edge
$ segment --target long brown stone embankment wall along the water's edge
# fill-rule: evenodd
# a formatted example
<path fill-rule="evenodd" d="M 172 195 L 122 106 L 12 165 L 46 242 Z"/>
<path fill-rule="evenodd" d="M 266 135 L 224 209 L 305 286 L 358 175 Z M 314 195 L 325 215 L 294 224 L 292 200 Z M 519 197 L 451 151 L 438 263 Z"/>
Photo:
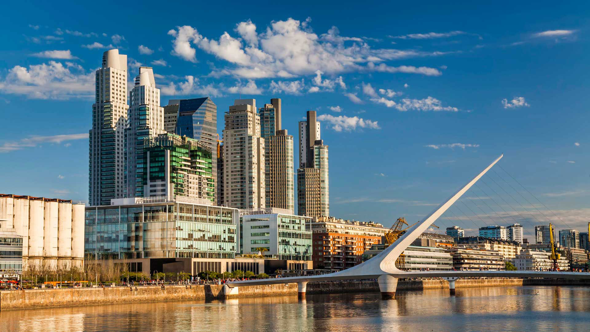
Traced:
<path fill-rule="evenodd" d="M 456 288 L 504 286 L 590 286 L 590 281 L 578 279 L 458 279 Z M 400 280 L 398 291 L 447 289 L 448 282 L 433 280 Z M 307 284 L 309 294 L 342 292 L 378 292 L 376 281 L 326 281 Z M 296 295 L 297 284 L 240 287 L 235 297 Z M 234 297 L 234 295 L 232 295 Z M 0 310 L 73 307 L 78 305 L 115 304 L 130 302 L 205 300 L 225 298 L 222 285 L 185 285 L 105 288 L 27 289 L 0 291 Z"/>

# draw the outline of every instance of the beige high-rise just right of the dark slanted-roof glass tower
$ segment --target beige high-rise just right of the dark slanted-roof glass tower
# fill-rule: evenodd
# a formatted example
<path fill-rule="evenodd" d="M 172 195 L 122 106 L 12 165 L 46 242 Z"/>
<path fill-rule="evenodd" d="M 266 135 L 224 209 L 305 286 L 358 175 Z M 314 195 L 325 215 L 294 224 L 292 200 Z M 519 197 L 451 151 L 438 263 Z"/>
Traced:
<path fill-rule="evenodd" d="M 260 136 L 256 100 L 235 100 L 225 112 L 223 139 L 225 201 L 222 204 L 237 209 L 264 209 L 264 138 Z"/>

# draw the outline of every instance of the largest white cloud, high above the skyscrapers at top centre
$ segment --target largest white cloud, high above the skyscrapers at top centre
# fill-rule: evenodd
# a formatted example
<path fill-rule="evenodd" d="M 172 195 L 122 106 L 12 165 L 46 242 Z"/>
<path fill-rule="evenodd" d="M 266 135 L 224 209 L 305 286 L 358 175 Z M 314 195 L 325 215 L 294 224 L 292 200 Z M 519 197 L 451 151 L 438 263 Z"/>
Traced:
<path fill-rule="evenodd" d="M 176 27 L 168 31 L 168 34 L 173 37 L 173 55 L 196 62 L 196 48 L 199 48 L 233 66 L 214 70 L 212 76 L 251 79 L 304 76 L 316 74 L 318 70 L 327 75 L 362 70 L 440 75 L 438 70 L 426 67 L 400 66 L 383 69 L 375 66 L 375 63 L 448 54 L 439 51 L 373 49 L 363 38 L 340 36 L 336 27 L 330 28 L 325 34 L 317 35 L 309 23 L 310 19 L 303 22 L 293 18 L 273 21 L 266 30 L 258 33 L 256 25 L 248 20 L 236 25 L 234 31 L 239 37 L 235 38 L 224 32 L 218 40 L 209 40 L 189 25 Z M 345 88 L 341 79 L 335 81 Z M 321 82 L 324 83 L 324 80 Z"/>

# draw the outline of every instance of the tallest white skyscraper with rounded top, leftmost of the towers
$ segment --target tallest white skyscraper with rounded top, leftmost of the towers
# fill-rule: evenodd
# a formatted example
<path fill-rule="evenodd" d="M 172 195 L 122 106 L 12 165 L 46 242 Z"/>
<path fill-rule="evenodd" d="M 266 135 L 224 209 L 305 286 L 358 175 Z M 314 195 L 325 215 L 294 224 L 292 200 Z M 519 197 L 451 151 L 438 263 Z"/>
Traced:
<path fill-rule="evenodd" d="M 124 135 L 127 123 L 127 56 L 103 53 L 96 70 L 96 97 L 89 131 L 89 203 L 109 205 L 124 196 Z"/>

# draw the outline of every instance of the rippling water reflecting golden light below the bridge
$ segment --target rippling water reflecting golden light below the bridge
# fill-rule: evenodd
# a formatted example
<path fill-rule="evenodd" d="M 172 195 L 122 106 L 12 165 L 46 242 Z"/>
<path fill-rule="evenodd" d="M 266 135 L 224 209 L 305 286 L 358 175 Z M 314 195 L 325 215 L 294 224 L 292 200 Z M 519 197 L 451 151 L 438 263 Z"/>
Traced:
<path fill-rule="evenodd" d="M 536 292 L 539 295 L 535 295 Z M 590 288 L 496 287 L 3 311 L 0 331 L 588 331 Z"/>

